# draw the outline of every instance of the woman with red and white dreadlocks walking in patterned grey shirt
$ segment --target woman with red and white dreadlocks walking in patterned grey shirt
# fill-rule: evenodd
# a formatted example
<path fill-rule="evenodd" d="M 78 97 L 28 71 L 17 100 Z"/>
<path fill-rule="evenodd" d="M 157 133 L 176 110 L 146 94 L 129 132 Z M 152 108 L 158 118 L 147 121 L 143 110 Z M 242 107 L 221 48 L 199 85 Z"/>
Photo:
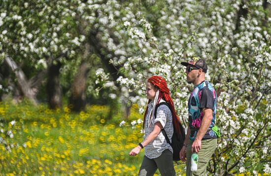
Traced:
<path fill-rule="evenodd" d="M 146 95 L 149 100 L 144 114 L 144 140 L 129 154 L 135 156 L 145 147 L 145 156 L 139 169 L 139 176 L 153 176 L 157 168 L 162 176 L 175 176 L 172 147 L 167 143 L 163 133 L 160 133 L 164 128 L 170 142 L 173 129 L 180 134 L 179 118 L 176 115 L 165 79 L 160 76 L 149 78 Z M 167 102 L 170 108 L 167 105 L 159 106 L 155 118 L 155 107 L 162 102 Z"/>

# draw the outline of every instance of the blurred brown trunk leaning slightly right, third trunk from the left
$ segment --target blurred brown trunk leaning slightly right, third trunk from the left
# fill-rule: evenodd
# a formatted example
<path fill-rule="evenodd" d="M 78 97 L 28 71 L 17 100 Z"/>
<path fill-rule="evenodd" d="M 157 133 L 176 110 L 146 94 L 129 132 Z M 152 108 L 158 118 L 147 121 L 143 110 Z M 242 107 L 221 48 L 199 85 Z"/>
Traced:
<path fill-rule="evenodd" d="M 86 61 L 82 61 L 78 69 L 78 73 L 75 76 L 74 82 L 71 86 L 71 96 L 69 98 L 69 104 L 71 104 L 73 107 L 72 111 L 80 112 L 85 110 L 86 86 L 89 71 L 89 64 Z"/>

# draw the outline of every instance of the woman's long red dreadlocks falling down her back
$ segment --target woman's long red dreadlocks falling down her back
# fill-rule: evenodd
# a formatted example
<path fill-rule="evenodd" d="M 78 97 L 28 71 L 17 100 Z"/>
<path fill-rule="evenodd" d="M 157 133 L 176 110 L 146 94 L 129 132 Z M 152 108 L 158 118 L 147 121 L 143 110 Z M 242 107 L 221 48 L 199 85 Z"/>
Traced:
<path fill-rule="evenodd" d="M 181 134 L 181 129 L 180 129 L 180 125 L 179 125 L 179 123 L 181 121 L 175 112 L 174 104 L 173 104 L 173 101 L 169 95 L 169 88 L 167 86 L 166 80 L 164 78 L 162 78 L 161 76 L 152 76 L 148 79 L 148 82 L 152 83 L 154 86 L 159 88 L 159 95 L 158 95 L 157 104 L 159 104 L 161 99 L 165 100 L 169 104 L 169 107 L 170 107 L 169 109 L 172 114 L 174 130 L 177 132 L 177 134 Z M 148 104 L 150 102 L 151 102 L 151 100 L 148 101 Z M 145 125 L 145 119 L 146 119 L 147 112 L 148 112 L 148 106 L 147 106 L 145 114 L 144 114 L 143 128 Z"/>

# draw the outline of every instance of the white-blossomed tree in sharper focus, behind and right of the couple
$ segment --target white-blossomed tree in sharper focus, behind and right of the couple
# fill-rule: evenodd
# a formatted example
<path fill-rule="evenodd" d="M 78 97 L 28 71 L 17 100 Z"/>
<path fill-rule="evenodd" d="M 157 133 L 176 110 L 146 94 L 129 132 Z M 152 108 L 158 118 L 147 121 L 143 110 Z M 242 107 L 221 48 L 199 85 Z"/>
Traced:
<path fill-rule="evenodd" d="M 116 1 L 111 5 L 121 6 Z M 217 124 L 223 133 L 209 173 L 271 173 L 270 2 L 150 0 L 131 2 L 124 11 L 125 17 L 113 22 L 123 23 L 129 48 L 123 48 L 123 57 L 110 59 L 122 65 L 124 76 L 117 80 L 122 98 L 138 103 L 143 112 L 144 80 L 162 75 L 186 126 L 192 87 L 180 62 L 205 59 L 206 79 L 218 94 Z"/>

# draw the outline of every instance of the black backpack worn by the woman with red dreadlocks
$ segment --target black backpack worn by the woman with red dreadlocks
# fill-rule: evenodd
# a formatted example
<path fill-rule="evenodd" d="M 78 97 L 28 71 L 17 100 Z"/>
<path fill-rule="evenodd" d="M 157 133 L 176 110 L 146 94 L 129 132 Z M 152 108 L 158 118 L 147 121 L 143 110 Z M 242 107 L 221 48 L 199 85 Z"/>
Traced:
<path fill-rule="evenodd" d="M 169 107 L 169 104 L 166 103 L 166 102 L 162 102 L 162 103 L 159 103 L 156 107 L 155 107 L 155 110 L 154 110 L 154 117 L 156 118 L 156 113 L 157 113 L 157 109 L 159 106 L 161 105 L 166 105 Z M 169 107 L 170 109 L 170 107 Z M 170 109 L 171 111 L 171 109 Z M 172 119 L 173 120 L 173 119 Z M 162 129 L 162 133 L 163 135 L 165 136 L 166 140 L 167 140 L 167 143 L 169 143 L 169 145 L 172 147 L 173 149 L 173 161 L 179 161 L 180 160 L 180 151 L 183 147 L 183 142 L 185 140 L 185 132 L 184 132 L 184 128 L 183 126 L 181 125 L 181 123 L 179 122 L 179 125 L 180 125 L 180 130 L 181 130 L 181 134 L 177 134 L 177 132 L 175 131 L 175 128 L 174 128 L 174 131 L 173 131 L 173 135 L 172 135 L 172 138 L 171 138 L 171 143 L 169 141 L 169 137 L 165 131 L 165 129 L 163 128 Z M 173 125 L 174 127 L 174 125 Z"/>

